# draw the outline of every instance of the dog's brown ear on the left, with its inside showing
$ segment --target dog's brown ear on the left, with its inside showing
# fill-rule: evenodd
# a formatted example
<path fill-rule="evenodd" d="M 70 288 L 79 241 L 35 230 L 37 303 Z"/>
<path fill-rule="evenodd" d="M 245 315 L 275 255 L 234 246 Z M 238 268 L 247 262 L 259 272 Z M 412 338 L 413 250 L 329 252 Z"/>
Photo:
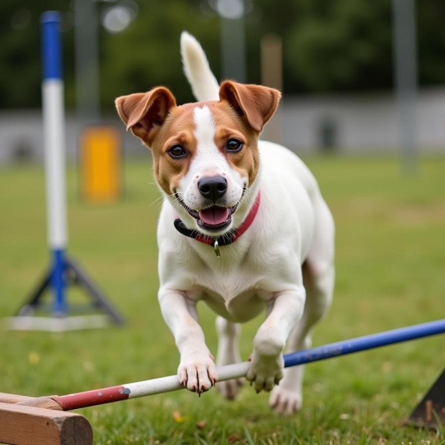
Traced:
<path fill-rule="evenodd" d="M 170 109 L 176 106 L 176 99 L 169 89 L 157 87 L 145 93 L 120 96 L 115 104 L 127 130 L 131 129 L 134 135 L 149 144 Z"/>

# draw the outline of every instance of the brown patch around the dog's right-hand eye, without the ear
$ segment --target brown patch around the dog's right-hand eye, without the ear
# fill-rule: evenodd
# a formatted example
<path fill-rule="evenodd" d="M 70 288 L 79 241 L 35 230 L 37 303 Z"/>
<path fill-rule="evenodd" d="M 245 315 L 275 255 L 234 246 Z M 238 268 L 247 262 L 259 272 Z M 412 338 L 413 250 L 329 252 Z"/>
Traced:
<path fill-rule="evenodd" d="M 242 178 L 248 178 L 251 185 L 260 167 L 260 153 L 258 151 L 258 132 L 252 129 L 245 118 L 238 116 L 228 102 L 210 102 L 209 108 L 216 124 L 215 143 L 225 156 L 229 165 Z M 239 152 L 225 149 L 231 138 L 240 140 L 243 148 Z"/>

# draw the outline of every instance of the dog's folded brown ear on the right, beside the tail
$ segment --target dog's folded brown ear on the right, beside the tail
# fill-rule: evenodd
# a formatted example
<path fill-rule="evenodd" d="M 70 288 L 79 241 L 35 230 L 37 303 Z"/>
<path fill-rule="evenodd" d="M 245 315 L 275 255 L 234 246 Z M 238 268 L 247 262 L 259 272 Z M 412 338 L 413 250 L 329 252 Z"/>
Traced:
<path fill-rule="evenodd" d="M 224 81 L 220 86 L 220 100 L 226 100 L 241 115 L 246 116 L 250 126 L 257 132 L 275 112 L 281 93 L 277 89 L 261 85 L 244 85 Z"/>

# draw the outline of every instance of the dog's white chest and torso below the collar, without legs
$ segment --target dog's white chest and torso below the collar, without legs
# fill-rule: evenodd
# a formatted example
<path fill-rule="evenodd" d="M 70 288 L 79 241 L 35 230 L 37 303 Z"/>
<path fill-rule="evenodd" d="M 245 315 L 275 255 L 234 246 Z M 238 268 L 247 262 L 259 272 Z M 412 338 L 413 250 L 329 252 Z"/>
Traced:
<path fill-rule="evenodd" d="M 284 148 L 262 145 L 258 214 L 235 243 L 221 248 L 221 259 L 212 246 L 176 231 L 169 202 L 158 226 L 161 287 L 204 301 L 235 322 L 254 318 L 273 302 L 276 292 L 297 285 L 312 242 L 311 177 L 306 167 Z"/>

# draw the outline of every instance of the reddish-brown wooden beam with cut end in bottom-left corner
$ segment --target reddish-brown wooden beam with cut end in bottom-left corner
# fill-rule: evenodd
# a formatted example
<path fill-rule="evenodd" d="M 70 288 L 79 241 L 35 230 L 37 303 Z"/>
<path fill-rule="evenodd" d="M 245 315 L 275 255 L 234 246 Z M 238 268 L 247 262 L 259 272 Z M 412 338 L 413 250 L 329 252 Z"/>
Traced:
<path fill-rule="evenodd" d="M 0 443 L 92 445 L 92 429 L 80 414 L 0 402 Z"/>

